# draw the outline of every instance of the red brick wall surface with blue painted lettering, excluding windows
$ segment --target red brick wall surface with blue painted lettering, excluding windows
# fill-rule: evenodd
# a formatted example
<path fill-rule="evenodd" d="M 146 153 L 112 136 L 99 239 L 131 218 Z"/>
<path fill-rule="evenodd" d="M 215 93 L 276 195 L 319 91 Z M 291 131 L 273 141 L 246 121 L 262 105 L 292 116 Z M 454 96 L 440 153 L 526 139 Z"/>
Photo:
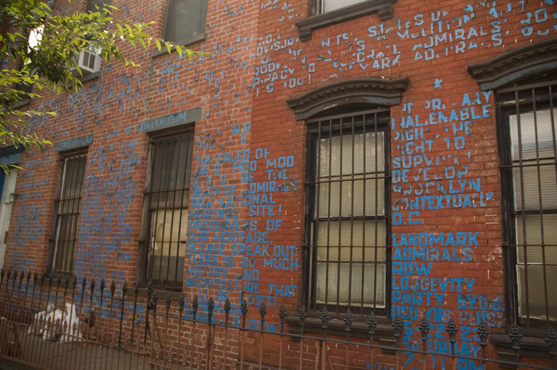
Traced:
<path fill-rule="evenodd" d="M 155 19 L 159 24 L 152 32 L 162 34 L 164 6 L 146 8 L 138 3 L 118 4 L 118 14 L 146 21 Z M 82 6 L 81 1 L 72 3 L 72 7 Z M 191 48 L 208 51 L 211 56 L 188 61 L 175 53 L 152 57 L 151 49 L 126 47 L 141 67 L 103 63 L 100 78 L 84 83 L 77 92 L 43 92 L 42 98 L 33 99 L 29 105 L 58 113 L 56 118 L 40 118 L 30 124 L 30 129 L 53 142 L 94 135 L 88 147 L 81 226 L 84 215 L 94 215 L 99 220 L 88 225 L 93 229 L 100 225 L 103 232 L 91 240 L 78 239 L 74 273 L 118 281 L 135 281 L 143 273 L 138 268 L 138 240 L 141 227 L 146 227 L 141 217 L 148 135 L 139 132 L 137 126 L 143 120 L 201 106 L 203 118 L 195 122 L 190 196 L 194 202 L 214 203 L 212 207 L 197 208 L 191 202 L 190 211 L 230 211 L 234 216 L 227 221 L 237 221 L 233 230 L 236 240 L 224 243 L 224 255 L 217 256 L 214 266 L 221 268 L 224 289 L 207 289 L 200 280 L 194 282 L 192 271 L 185 266 L 183 291 L 190 300 L 194 294 L 202 302 L 214 297 L 220 308 L 227 296 L 233 305 L 242 300 L 256 305 L 265 302 L 271 315 L 267 321 L 272 325 L 278 322 L 281 304 L 295 314 L 299 305 L 306 304 L 301 302 L 301 245 L 307 213 L 306 124 L 295 119 L 286 99 L 347 79 L 405 77 L 409 86 L 402 95 L 402 104 L 391 106 L 390 112 L 391 212 L 396 214 L 391 225 L 393 278 L 388 279 L 391 312 L 414 321 L 414 325 L 427 316 L 434 328 L 441 330 L 445 329 L 448 316 L 452 316 L 459 328 L 470 331 L 459 334 L 461 351 L 468 348 L 477 354 L 474 351 L 478 351 L 479 344 L 473 330 L 478 317 L 487 319 L 490 330 L 496 332 L 505 332 L 507 323 L 494 93 L 480 92 L 466 67 L 554 38 L 554 12 L 554 6 L 540 1 L 508 1 L 495 6 L 462 1 L 398 1 L 393 5 L 391 19 L 380 21 L 376 14 L 359 17 L 318 29 L 311 40 L 301 42 L 295 22 L 308 14 L 306 1 L 209 1 L 207 38 Z M 462 115 L 461 108 L 465 108 Z M 433 124 L 431 117 L 439 120 L 439 113 L 447 122 Z M 421 133 L 423 129 L 425 150 L 420 153 L 423 156 L 416 157 L 421 163 L 403 168 L 402 160 L 407 161 L 408 153 L 403 152 L 406 143 L 400 135 L 407 128 L 403 122 L 409 125 L 410 119 L 416 126 L 420 126 L 417 121 L 423 124 L 418 130 Z M 464 121 L 471 122 L 466 126 Z M 12 214 L 6 267 L 47 270 L 59 156 L 52 147 L 23 156 L 21 165 L 28 171 L 20 174 L 17 182 L 19 200 Z M 133 164 L 123 163 L 123 156 L 134 159 Z M 277 163 L 284 160 L 284 168 L 274 168 L 275 159 Z M 235 168 L 238 161 L 245 162 L 241 170 Z M 431 164 L 426 164 L 429 161 Z M 118 170 L 124 170 L 125 175 Z M 118 184 L 100 185 L 115 178 Z M 42 180 L 40 186 L 24 187 L 37 179 Z M 282 191 L 250 191 L 251 186 L 256 186 L 253 184 L 267 182 L 268 186 L 269 181 L 281 184 Z M 125 182 L 134 184 L 130 193 L 133 197 L 121 198 L 122 202 L 115 204 Z M 217 186 L 221 193 L 202 195 L 210 186 Z M 449 195 L 451 189 L 455 200 L 462 197 L 464 205 L 440 208 L 434 197 Z M 262 202 L 262 207 L 254 208 L 242 205 L 250 193 L 265 194 L 272 203 Z M 419 198 L 418 209 L 409 209 L 409 202 L 425 196 L 431 198 Z M 442 199 L 444 204 L 453 201 L 452 197 Z M 434 203 L 431 206 L 430 200 Z M 88 207 L 90 202 L 100 208 Z M 207 218 L 190 216 L 189 232 L 194 233 L 192 237 L 207 232 L 209 243 L 214 243 L 214 231 L 195 224 L 203 220 Z M 114 233 L 119 227 L 130 230 L 129 239 L 118 239 Z M 267 241 L 253 241 L 249 244 L 253 244 L 251 250 L 242 251 L 238 245 L 246 243 L 240 241 L 240 232 L 245 233 L 244 238 L 262 236 Z M 414 233 L 431 233 L 435 237 L 440 233 L 464 233 L 467 241 L 464 245 L 446 241 L 446 248 L 437 246 L 439 262 L 405 260 L 401 257 L 407 246 L 404 238 Z M 107 252 L 110 243 L 116 244 Z M 286 248 L 275 249 L 276 246 Z M 192 258 L 203 255 L 200 243 L 192 243 L 191 248 L 198 248 L 198 252 L 190 251 Z M 285 255 L 280 254 L 281 250 Z M 265 259 L 275 257 L 283 263 L 281 268 L 265 266 Z M 410 266 L 427 269 L 427 276 L 405 273 Z M 212 266 L 203 267 L 201 278 L 215 278 L 210 276 Z M 258 271 L 258 279 L 249 281 L 246 271 Z M 438 296 L 425 285 L 417 295 L 410 289 L 416 282 L 432 281 L 460 282 L 462 289 L 447 288 Z M 272 291 L 272 284 L 282 285 L 283 293 Z M 431 296 L 430 303 L 426 303 L 426 296 Z M 485 300 L 487 307 L 480 309 L 478 300 Z M 249 316 L 249 325 L 256 325 L 256 309 L 252 308 Z M 418 346 L 418 334 L 405 332 L 404 345 Z M 367 357 L 360 360 L 366 361 Z"/>

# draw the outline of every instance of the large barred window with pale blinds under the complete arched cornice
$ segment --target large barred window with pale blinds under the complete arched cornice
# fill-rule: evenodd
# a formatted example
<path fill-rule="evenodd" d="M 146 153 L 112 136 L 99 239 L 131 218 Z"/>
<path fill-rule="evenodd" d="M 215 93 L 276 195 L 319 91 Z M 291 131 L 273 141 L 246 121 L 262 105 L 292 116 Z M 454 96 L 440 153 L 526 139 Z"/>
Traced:
<path fill-rule="evenodd" d="M 388 118 L 388 110 L 376 109 L 307 122 L 306 253 L 314 311 L 386 306 Z"/>

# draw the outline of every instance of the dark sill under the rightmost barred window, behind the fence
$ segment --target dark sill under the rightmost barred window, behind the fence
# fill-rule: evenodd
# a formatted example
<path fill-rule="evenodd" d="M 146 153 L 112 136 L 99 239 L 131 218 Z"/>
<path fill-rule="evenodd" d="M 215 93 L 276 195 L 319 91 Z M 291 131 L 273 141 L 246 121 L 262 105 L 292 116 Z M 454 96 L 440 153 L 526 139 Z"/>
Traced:
<path fill-rule="evenodd" d="M 512 342 L 508 335 L 505 334 L 492 334 L 492 342 L 497 348 L 497 355 L 501 360 L 513 361 L 515 360 L 515 351 L 512 349 Z M 529 337 L 524 336 L 520 341 L 519 355 L 524 357 L 536 357 L 551 359 L 549 355 L 549 348 L 545 339 L 542 337 Z M 504 367 L 503 369 L 512 369 L 512 367 Z"/>

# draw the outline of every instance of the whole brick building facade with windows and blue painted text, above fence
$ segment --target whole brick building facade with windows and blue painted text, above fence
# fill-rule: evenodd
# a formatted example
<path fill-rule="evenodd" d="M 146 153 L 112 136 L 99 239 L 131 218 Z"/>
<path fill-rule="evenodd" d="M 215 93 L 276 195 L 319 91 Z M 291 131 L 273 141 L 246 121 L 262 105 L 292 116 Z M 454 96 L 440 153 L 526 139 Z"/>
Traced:
<path fill-rule="evenodd" d="M 28 103 L 58 113 L 29 122 L 54 145 L 17 154 L 4 267 L 152 280 L 217 319 L 229 298 L 235 323 L 265 303 L 269 331 L 282 304 L 289 330 L 300 305 L 313 332 L 323 307 L 379 332 L 425 316 L 440 353 L 450 317 L 464 355 L 482 322 L 505 352 L 516 322 L 538 357 L 557 319 L 554 1 L 116 5 L 211 55 L 130 47 L 140 67 Z"/>

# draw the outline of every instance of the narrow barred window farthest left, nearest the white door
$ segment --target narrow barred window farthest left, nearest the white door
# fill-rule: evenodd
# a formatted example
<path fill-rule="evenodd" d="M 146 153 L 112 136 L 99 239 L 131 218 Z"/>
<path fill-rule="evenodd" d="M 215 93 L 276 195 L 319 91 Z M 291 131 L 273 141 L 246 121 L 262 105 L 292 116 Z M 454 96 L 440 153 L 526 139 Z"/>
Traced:
<path fill-rule="evenodd" d="M 86 159 L 85 153 L 79 153 L 61 160 L 61 178 L 54 207 L 54 237 L 51 241 L 51 268 L 54 273 L 72 273 Z"/>

